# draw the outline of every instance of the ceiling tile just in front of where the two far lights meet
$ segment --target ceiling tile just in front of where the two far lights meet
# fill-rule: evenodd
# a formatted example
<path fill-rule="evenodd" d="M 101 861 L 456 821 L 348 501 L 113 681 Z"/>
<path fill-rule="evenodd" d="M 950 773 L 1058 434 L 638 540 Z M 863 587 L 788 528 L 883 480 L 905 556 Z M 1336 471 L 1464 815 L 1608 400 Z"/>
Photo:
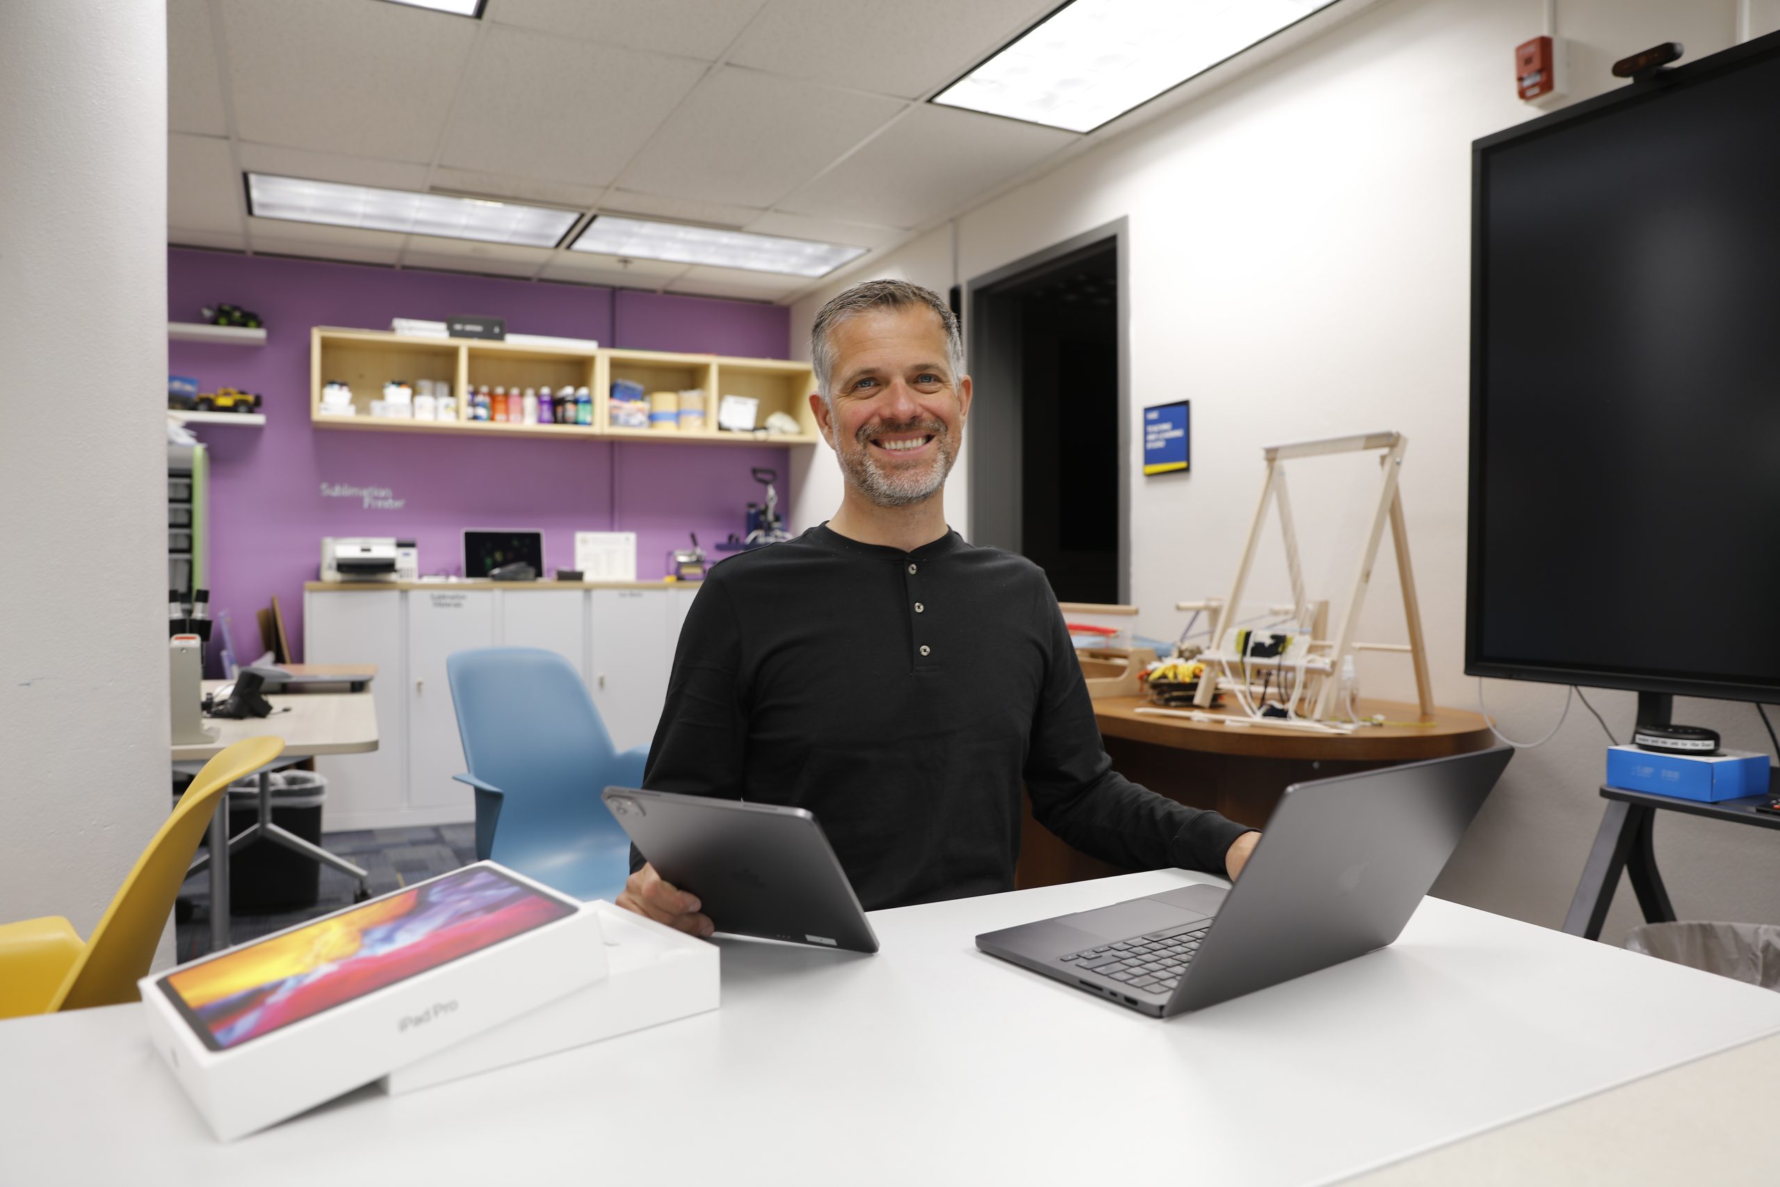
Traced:
<path fill-rule="evenodd" d="M 705 69 L 493 27 L 465 78 L 440 164 L 607 185 Z"/>

